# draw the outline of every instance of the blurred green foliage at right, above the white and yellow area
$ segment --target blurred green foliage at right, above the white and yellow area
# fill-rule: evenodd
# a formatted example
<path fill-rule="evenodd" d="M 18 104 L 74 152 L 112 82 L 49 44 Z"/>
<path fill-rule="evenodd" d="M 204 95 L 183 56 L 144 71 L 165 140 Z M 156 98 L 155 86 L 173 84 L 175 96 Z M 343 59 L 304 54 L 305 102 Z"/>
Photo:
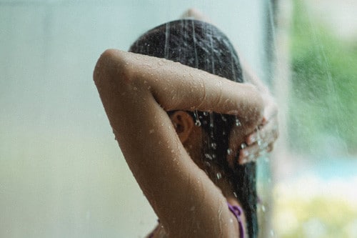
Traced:
<path fill-rule="evenodd" d="M 316 21 L 303 1 L 293 5 L 291 149 L 321 153 L 336 142 L 336 148 L 339 144 L 356 154 L 357 39 L 354 43 L 338 39 Z"/>

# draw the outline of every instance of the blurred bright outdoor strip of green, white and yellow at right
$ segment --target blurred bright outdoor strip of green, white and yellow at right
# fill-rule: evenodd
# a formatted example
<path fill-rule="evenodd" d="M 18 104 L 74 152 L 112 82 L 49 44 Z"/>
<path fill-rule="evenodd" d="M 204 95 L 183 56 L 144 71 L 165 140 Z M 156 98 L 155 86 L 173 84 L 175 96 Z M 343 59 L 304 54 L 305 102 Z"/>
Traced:
<path fill-rule="evenodd" d="M 274 231 L 357 237 L 357 2 L 276 6 L 275 75 L 289 80 L 278 94 L 286 140 L 272 160 Z"/>

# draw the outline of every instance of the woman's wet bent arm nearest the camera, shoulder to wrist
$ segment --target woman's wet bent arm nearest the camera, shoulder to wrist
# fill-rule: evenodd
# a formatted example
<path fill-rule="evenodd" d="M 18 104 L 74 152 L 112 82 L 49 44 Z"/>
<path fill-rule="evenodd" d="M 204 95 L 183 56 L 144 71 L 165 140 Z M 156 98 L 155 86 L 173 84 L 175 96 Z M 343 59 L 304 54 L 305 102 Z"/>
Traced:
<path fill-rule="evenodd" d="M 188 156 L 166 111 L 235 114 L 242 128 L 253 130 L 263 111 L 255 87 L 118 50 L 101 55 L 94 81 L 126 162 L 166 232 L 219 237 L 230 231 L 226 200 Z M 199 229 L 194 220 L 201 221 Z M 221 229 L 213 230 L 211 224 Z"/>

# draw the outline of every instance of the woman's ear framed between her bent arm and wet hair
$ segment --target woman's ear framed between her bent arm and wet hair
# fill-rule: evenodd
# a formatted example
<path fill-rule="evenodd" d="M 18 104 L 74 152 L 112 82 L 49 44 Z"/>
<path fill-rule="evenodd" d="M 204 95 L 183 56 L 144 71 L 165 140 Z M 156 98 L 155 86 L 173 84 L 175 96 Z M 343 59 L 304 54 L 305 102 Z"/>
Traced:
<path fill-rule="evenodd" d="M 178 138 L 182 143 L 186 142 L 195 127 L 192 116 L 187 111 L 175 111 L 174 114 L 171 114 L 170 119 L 174 124 Z"/>

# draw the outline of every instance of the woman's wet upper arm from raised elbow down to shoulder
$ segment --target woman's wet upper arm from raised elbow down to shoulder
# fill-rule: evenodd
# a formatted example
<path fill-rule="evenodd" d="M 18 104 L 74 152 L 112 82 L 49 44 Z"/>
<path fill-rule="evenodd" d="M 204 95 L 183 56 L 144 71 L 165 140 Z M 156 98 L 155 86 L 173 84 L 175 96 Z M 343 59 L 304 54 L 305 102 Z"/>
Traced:
<path fill-rule="evenodd" d="M 214 232 L 227 231 L 231 225 L 226 200 L 189 157 L 164 110 L 177 106 L 164 102 L 177 85 L 171 88 L 164 79 L 159 84 L 156 78 L 162 74 L 152 78 L 150 71 L 131 67 L 125 57 L 106 51 L 96 65 L 94 81 L 131 172 L 168 232 L 177 237 L 194 231 L 218 237 Z"/>

